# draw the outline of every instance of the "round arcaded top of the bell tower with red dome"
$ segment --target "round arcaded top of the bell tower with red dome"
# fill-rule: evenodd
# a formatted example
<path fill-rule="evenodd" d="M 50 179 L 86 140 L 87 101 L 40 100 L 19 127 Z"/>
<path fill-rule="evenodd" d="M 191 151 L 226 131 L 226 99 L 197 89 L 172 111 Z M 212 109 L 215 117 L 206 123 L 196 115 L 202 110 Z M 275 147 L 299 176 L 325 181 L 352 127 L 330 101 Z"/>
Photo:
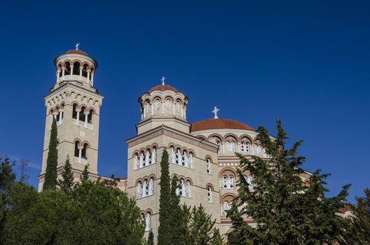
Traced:
<path fill-rule="evenodd" d="M 93 86 L 97 62 L 87 52 L 79 50 L 78 45 L 76 49 L 68 50 L 54 59 L 57 83 L 76 80 Z"/>

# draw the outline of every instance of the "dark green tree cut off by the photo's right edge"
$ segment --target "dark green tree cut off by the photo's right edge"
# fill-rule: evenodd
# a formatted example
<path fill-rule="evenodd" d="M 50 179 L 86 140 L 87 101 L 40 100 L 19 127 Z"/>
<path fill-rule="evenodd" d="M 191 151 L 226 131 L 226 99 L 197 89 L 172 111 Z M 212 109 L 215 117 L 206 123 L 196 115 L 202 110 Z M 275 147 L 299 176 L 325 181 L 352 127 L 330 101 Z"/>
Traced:
<path fill-rule="evenodd" d="M 370 244 L 370 189 L 364 190 L 365 197 L 355 197 L 357 204 L 351 205 L 352 229 L 348 232 L 348 244 Z"/>

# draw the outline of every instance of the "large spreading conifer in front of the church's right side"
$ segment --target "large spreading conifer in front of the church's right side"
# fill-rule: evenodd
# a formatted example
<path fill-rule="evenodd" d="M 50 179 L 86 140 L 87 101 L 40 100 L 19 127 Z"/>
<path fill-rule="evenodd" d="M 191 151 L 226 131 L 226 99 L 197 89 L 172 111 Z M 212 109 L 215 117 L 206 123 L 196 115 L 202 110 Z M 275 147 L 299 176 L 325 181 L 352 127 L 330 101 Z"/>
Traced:
<path fill-rule="evenodd" d="M 325 197 L 324 181 L 329 174 L 313 173 L 308 183 L 303 183 L 301 165 L 305 158 L 297 156 L 302 141 L 287 148 L 287 132 L 277 120 L 278 136 L 272 139 L 265 127 L 257 130 L 257 140 L 269 159 L 237 154 L 240 158 L 238 195 L 228 217 L 233 222 L 235 244 L 331 244 L 343 243 L 348 225 L 336 215 L 343 207 L 349 185 L 335 197 Z M 251 190 L 245 174 L 254 177 Z M 252 228 L 243 217 L 250 216 L 257 223 Z"/>

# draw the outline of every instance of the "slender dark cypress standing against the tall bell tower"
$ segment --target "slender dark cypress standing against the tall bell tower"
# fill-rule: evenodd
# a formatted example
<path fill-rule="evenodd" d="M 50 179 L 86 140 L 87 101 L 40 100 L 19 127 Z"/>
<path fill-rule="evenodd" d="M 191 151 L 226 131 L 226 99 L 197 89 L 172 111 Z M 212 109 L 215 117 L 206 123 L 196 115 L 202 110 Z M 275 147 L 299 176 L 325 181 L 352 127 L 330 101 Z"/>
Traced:
<path fill-rule="evenodd" d="M 57 121 L 53 118 L 51 125 L 48 159 L 46 160 L 45 181 L 43 190 L 54 190 L 57 187 Z"/>

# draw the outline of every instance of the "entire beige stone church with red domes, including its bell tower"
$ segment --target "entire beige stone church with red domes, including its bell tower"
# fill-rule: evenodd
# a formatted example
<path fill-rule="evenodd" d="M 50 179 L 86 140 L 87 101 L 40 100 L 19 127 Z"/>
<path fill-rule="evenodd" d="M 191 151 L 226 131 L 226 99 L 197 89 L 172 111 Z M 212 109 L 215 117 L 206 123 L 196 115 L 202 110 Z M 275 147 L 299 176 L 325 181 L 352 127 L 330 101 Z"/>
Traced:
<path fill-rule="evenodd" d="M 54 63 L 56 83 L 44 97 L 46 127 L 39 190 L 43 186 L 53 118 L 58 132 L 58 175 L 69 155 L 76 180 L 85 165 L 89 165 L 91 179 L 99 177 L 99 118 L 104 97 L 94 86 L 97 62 L 76 45 L 75 50 L 57 56 Z M 162 78 L 161 84 L 139 96 L 141 120 L 136 125 L 137 134 L 127 139 L 128 176 L 121 179 L 119 187 L 135 197 L 146 221 L 146 232 L 152 231 L 155 237 L 159 226 L 160 158 L 164 149 L 169 153 L 170 176 L 179 179 L 177 193 L 181 202 L 191 206 L 202 204 L 224 235 L 231 231 L 226 211 L 237 194 L 235 169 L 239 159 L 235 152 L 268 158 L 256 141 L 253 127 L 219 118 L 216 107 L 213 118 L 189 122 L 188 103 L 185 91 Z M 306 177 L 308 174 L 303 176 Z M 253 188 L 253 176 L 245 173 L 245 178 Z M 254 225 L 252 219 L 245 219 Z"/>

